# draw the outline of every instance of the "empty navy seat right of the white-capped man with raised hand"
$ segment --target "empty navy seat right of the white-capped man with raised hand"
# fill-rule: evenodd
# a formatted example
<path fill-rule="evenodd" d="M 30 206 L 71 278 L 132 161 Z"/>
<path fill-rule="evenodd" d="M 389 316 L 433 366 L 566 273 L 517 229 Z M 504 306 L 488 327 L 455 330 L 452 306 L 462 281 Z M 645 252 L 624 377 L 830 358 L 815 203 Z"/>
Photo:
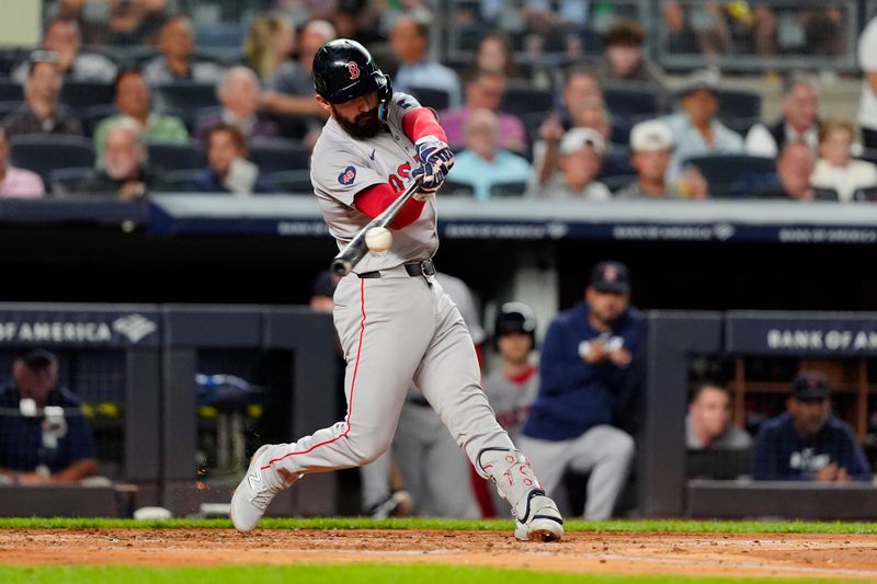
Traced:
<path fill-rule="evenodd" d="M 713 198 L 748 197 L 770 183 L 776 174 L 773 158 L 717 154 L 687 160 L 706 179 Z M 684 164 L 683 164 L 684 167 Z"/>

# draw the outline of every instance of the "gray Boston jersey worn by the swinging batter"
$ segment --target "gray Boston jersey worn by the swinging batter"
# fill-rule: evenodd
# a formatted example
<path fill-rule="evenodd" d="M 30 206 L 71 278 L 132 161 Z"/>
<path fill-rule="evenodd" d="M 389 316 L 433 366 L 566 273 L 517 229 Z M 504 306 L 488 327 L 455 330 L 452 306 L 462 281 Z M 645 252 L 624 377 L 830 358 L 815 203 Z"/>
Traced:
<path fill-rule="evenodd" d="M 338 241 L 339 249 L 372 220 L 353 206 L 356 193 L 380 183 L 389 183 L 394 190 L 402 191 L 411 171 L 418 167 L 414 145 L 402 131 L 402 117 L 419 106 L 411 95 L 394 93 L 387 110 L 389 131 L 365 140 L 351 137 L 334 117 L 326 123 L 310 159 L 310 180 L 329 232 Z M 356 271 L 386 270 L 432 257 L 438 248 L 435 219 L 436 204 L 432 198 L 413 224 L 394 230 L 389 250 L 369 252 Z"/>

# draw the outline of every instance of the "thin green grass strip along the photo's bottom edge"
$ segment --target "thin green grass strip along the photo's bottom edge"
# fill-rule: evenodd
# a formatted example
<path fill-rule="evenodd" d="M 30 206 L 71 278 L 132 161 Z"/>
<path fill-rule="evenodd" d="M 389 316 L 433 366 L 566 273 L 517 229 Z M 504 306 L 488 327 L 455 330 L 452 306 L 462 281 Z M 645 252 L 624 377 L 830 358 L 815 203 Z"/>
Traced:
<path fill-rule="evenodd" d="M 663 584 L 663 583 L 705 583 L 731 584 L 838 584 L 836 580 L 802 579 L 687 579 L 669 576 L 620 576 L 620 575 L 573 575 L 526 570 L 493 570 L 490 568 L 466 568 L 453 565 L 283 565 L 283 566 L 218 566 L 218 568 L 173 568 L 144 569 L 136 566 L 0 566 L 0 582 L 3 584 L 394 584 L 402 582 L 453 582 L 454 584 Z"/>

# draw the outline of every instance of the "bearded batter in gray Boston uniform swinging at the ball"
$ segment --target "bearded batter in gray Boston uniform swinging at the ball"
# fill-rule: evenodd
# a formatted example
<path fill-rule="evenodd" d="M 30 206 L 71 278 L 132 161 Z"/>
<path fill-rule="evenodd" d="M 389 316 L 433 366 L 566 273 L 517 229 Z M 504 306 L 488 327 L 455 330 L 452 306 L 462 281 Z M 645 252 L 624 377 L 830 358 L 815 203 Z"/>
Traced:
<path fill-rule="evenodd" d="M 259 448 L 231 499 L 235 526 L 253 529 L 274 496 L 308 472 L 377 458 L 390 445 L 413 381 L 477 472 L 511 504 L 515 537 L 560 539 L 557 505 L 497 423 L 479 385 L 471 337 L 434 277 L 434 194 L 454 163 L 444 130 L 431 110 L 394 94 L 354 41 L 320 47 L 312 71 L 317 101 L 331 117 L 314 148 L 311 181 L 339 248 L 409 181 L 422 176 L 422 183 L 390 224 L 390 249 L 369 253 L 335 290 L 334 324 L 346 359 L 344 420 L 295 443 Z"/>

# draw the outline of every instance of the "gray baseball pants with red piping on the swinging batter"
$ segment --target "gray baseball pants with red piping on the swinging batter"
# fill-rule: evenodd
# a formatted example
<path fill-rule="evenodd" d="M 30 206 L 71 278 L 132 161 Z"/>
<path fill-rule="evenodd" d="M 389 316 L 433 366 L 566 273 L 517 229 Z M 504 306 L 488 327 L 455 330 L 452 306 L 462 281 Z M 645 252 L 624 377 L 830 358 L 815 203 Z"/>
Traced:
<path fill-rule="evenodd" d="M 485 448 L 514 448 L 481 390 L 466 324 L 434 277 L 409 276 L 403 266 L 381 271 L 380 278 L 351 274 L 339 283 L 334 304 L 348 413 L 310 436 L 273 446 L 269 460 L 277 472 L 294 477 L 375 460 L 392 440 L 412 380 L 474 465 Z"/>

